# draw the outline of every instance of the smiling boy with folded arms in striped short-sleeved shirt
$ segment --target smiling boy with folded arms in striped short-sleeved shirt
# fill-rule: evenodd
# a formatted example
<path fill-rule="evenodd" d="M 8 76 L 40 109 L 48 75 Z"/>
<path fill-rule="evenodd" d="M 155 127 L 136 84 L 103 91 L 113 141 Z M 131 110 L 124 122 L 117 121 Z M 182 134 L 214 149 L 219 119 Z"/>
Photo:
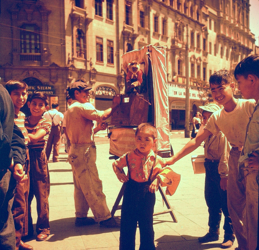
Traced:
<path fill-rule="evenodd" d="M 25 119 L 25 128 L 31 142 L 30 149 L 30 192 L 28 197 L 28 234 L 33 234 L 31 202 L 35 195 L 38 219 L 36 223 L 37 241 L 46 240 L 50 233 L 48 196 L 50 189 L 48 162 L 44 150 L 51 130 L 51 121 L 43 117 L 49 109 L 48 97 L 41 92 L 32 94 L 28 101 L 31 115 Z"/>

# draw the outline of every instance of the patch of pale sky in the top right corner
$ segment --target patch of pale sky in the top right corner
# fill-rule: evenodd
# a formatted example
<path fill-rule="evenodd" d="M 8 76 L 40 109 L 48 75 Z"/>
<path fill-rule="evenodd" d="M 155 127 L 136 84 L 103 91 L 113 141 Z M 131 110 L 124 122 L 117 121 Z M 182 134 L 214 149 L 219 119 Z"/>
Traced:
<path fill-rule="evenodd" d="M 259 0 L 250 0 L 250 30 L 253 34 L 255 34 L 255 45 L 258 44 L 258 36 L 259 36 Z"/>

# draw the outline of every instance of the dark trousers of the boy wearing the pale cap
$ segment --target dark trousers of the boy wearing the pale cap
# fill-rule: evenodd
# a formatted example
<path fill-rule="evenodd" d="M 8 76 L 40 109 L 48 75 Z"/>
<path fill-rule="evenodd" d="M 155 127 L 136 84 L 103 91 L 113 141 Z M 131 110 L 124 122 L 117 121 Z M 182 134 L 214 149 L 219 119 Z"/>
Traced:
<path fill-rule="evenodd" d="M 206 162 L 205 166 L 205 201 L 208 206 L 209 222 L 211 231 L 216 231 L 220 227 L 222 212 L 225 216 L 223 229 L 225 230 L 224 238 L 232 239 L 233 226 L 227 208 L 227 190 L 220 188 L 220 175 L 218 172 L 219 163 Z"/>

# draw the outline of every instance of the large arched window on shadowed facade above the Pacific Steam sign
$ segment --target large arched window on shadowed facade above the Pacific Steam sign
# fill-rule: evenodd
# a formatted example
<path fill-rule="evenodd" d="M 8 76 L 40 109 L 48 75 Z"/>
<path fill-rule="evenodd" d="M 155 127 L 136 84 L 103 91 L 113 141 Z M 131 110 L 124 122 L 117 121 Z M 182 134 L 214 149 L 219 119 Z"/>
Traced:
<path fill-rule="evenodd" d="M 21 53 L 41 53 L 40 28 L 36 25 L 24 24 L 20 30 Z"/>

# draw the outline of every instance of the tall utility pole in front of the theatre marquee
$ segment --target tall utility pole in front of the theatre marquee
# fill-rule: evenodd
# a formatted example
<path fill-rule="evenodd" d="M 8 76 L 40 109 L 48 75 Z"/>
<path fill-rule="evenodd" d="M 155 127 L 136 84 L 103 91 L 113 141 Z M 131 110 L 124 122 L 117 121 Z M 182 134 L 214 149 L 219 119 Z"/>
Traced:
<path fill-rule="evenodd" d="M 189 26 L 186 24 L 186 50 L 185 50 L 185 129 L 184 137 L 190 138 L 190 84 L 189 84 Z"/>

